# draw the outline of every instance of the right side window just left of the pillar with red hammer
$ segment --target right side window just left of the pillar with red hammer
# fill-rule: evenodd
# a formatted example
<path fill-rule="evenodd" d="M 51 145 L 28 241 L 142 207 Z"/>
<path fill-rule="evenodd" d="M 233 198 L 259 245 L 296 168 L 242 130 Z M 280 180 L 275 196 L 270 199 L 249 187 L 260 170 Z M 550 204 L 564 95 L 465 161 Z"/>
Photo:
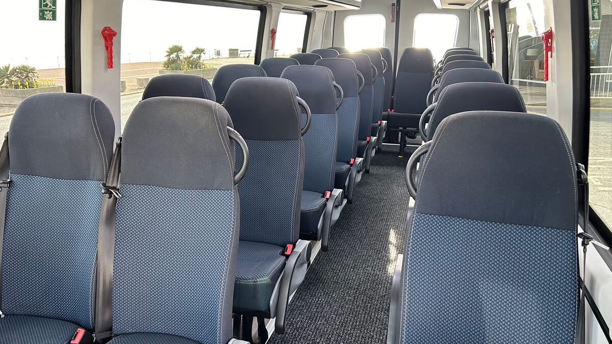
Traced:
<path fill-rule="evenodd" d="M 510 0 L 506 9 L 508 75 L 523 95 L 527 111 L 546 114 L 544 51 L 540 35 L 547 31 L 543 0 Z"/>

